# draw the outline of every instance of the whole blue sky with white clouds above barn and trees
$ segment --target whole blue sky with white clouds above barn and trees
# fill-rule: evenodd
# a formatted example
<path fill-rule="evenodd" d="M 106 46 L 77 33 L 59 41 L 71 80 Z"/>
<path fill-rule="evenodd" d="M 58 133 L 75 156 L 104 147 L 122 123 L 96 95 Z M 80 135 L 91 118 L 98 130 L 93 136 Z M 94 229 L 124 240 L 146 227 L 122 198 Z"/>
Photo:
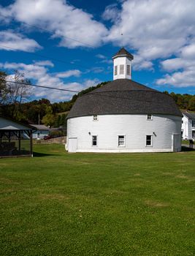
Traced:
<path fill-rule="evenodd" d="M 194 10 L 194 0 L 0 0 L 0 69 L 80 91 L 112 80 L 112 56 L 123 46 L 134 55 L 133 80 L 195 94 Z M 52 102 L 72 97 L 32 94 Z"/>

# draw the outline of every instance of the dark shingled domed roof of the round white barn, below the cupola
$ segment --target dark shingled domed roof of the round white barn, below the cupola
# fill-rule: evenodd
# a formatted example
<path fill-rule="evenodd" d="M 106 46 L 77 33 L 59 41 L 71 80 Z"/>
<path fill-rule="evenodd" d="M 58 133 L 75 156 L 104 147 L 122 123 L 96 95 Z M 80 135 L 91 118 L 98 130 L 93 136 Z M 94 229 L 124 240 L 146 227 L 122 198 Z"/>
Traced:
<path fill-rule="evenodd" d="M 67 118 L 151 113 L 182 116 L 174 99 L 129 79 L 117 79 L 77 98 Z"/>

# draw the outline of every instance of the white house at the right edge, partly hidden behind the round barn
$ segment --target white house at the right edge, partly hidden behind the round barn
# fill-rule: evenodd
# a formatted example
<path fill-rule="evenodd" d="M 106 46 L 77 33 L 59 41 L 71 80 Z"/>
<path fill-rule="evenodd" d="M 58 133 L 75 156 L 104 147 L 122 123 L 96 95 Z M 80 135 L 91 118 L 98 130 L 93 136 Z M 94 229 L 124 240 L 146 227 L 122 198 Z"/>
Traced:
<path fill-rule="evenodd" d="M 195 140 L 195 113 L 183 112 L 181 132 L 183 140 Z"/>

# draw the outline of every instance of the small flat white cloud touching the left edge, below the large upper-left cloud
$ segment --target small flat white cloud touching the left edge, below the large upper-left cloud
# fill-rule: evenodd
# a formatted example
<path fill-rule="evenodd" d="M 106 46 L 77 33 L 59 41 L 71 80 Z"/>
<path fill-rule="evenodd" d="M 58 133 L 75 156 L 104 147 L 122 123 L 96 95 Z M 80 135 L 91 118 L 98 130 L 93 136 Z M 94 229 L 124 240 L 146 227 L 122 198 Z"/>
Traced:
<path fill-rule="evenodd" d="M 24 37 L 22 34 L 14 31 L 0 31 L 0 49 L 1 50 L 23 50 L 34 52 L 42 47 L 34 39 Z"/>

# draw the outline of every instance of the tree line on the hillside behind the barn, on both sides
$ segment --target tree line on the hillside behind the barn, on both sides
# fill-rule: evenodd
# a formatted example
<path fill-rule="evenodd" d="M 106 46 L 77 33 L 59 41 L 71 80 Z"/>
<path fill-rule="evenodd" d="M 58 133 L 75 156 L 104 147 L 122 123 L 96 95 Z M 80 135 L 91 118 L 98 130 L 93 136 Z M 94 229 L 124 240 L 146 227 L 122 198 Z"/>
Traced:
<path fill-rule="evenodd" d="M 15 83 L 9 83 L 12 80 Z M 23 84 L 21 84 L 23 83 Z M 31 97 L 31 81 L 23 74 L 16 71 L 12 78 L 6 72 L 0 71 L 0 115 L 14 118 L 26 124 L 45 124 L 50 127 L 64 127 L 66 129 L 66 116 L 77 97 L 87 94 L 94 89 L 104 86 L 108 82 L 99 83 L 97 86 L 89 87 L 66 102 L 50 102 L 49 99 L 34 99 Z M 169 94 L 164 91 L 164 94 Z M 169 94 L 181 110 L 195 111 L 195 95 L 191 94 Z"/>

